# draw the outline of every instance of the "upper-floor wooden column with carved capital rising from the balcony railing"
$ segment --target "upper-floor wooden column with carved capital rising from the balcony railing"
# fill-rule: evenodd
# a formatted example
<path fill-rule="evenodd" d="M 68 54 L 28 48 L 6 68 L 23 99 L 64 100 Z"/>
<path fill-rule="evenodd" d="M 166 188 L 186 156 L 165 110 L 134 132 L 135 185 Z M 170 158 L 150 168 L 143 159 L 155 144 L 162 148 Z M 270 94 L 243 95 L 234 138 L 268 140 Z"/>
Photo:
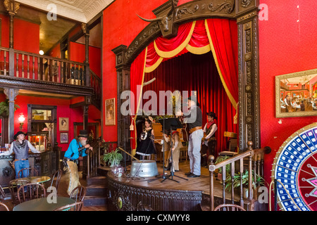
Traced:
<path fill-rule="evenodd" d="M 20 4 L 14 0 L 5 0 L 4 6 L 10 17 L 9 24 L 9 76 L 14 77 L 14 49 L 13 49 L 13 22 L 14 16 L 20 8 Z"/>

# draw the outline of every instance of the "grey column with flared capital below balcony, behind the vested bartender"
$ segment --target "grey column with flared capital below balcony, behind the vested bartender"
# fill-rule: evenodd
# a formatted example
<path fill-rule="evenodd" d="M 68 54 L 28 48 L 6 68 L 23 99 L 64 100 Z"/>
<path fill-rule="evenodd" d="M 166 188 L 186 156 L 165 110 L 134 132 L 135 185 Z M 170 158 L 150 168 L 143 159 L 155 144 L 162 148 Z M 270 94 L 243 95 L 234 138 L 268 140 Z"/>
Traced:
<path fill-rule="evenodd" d="M 4 89 L 4 94 L 6 94 L 6 98 L 8 98 L 8 106 L 9 106 L 9 115 L 8 115 L 8 142 L 11 143 L 13 141 L 14 136 L 14 101 L 16 96 L 18 96 L 18 89 Z"/>

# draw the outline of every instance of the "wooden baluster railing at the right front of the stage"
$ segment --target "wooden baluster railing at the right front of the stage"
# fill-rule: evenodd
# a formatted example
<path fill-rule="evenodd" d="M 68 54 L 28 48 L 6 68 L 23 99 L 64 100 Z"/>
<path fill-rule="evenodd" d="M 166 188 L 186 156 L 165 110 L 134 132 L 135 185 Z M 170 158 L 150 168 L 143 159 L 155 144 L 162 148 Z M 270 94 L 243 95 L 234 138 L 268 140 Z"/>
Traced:
<path fill-rule="evenodd" d="M 244 198 L 243 198 L 243 184 L 242 184 L 242 174 L 244 173 L 244 162 L 247 161 L 247 169 L 249 171 L 248 175 L 248 198 L 249 202 L 254 200 L 253 196 L 253 185 L 256 184 L 256 176 L 263 177 L 263 156 L 264 154 L 271 153 L 271 148 L 265 147 L 260 149 L 252 149 L 252 142 L 248 142 L 248 150 L 244 153 L 239 155 L 235 155 L 228 160 L 224 160 L 223 162 L 219 162 L 216 165 L 213 163 L 214 156 L 209 156 L 209 173 L 210 173 L 210 210 L 213 211 L 215 209 L 215 201 L 214 201 L 214 184 L 213 184 L 213 176 L 216 169 L 221 168 L 222 172 L 222 180 L 223 180 L 223 204 L 226 203 L 225 197 L 225 181 L 228 176 L 226 174 L 226 166 L 229 165 L 230 167 L 230 176 L 231 176 L 231 204 L 235 205 L 235 188 L 234 188 L 234 176 L 235 176 L 235 165 L 239 165 L 238 171 L 240 174 L 240 206 L 244 207 Z M 252 173 L 253 172 L 253 173 Z M 253 178 L 252 178 L 253 176 Z M 256 184 L 259 186 L 259 184 Z"/>

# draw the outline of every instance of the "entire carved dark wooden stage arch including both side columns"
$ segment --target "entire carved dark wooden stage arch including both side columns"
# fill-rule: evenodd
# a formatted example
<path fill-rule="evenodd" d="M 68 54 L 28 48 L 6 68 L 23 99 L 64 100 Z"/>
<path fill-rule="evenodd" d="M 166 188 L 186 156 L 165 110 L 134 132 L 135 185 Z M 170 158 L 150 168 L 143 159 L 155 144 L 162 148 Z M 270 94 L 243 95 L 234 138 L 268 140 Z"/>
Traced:
<path fill-rule="evenodd" d="M 176 1 L 174 0 L 174 3 Z M 239 148 L 247 149 L 252 141 L 254 148 L 260 146 L 260 110 L 259 110 L 259 0 L 196 0 L 174 8 L 170 18 L 170 27 L 166 33 L 161 21 L 149 23 L 139 32 L 129 46 L 120 45 L 113 49 L 116 54 L 118 81 L 117 107 L 120 108 L 122 91 L 130 90 L 130 65 L 151 41 L 161 35 L 173 37 L 175 27 L 194 20 L 208 18 L 228 18 L 237 20 L 238 30 L 238 86 L 239 86 Z M 166 15 L 172 8 L 172 1 L 154 9 L 156 18 Z M 140 19 L 141 21 L 141 19 Z M 118 146 L 130 148 L 130 117 L 123 116 L 118 110 Z"/>

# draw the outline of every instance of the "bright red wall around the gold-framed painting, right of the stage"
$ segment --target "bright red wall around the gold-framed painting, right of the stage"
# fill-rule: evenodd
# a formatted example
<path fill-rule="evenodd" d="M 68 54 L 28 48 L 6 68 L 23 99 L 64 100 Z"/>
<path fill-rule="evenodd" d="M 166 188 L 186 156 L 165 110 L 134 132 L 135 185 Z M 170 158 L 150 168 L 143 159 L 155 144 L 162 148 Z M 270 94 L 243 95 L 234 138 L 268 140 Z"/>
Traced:
<path fill-rule="evenodd" d="M 317 120 L 317 117 L 275 118 L 275 76 L 317 68 L 317 1 L 290 0 L 285 4 L 261 0 L 260 3 L 268 5 L 268 20 L 259 21 L 259 64 L 261 146 L 272 148 L 265 158 L 265 178 L 271 182 L 273 158 L 283 141 Z"/>

